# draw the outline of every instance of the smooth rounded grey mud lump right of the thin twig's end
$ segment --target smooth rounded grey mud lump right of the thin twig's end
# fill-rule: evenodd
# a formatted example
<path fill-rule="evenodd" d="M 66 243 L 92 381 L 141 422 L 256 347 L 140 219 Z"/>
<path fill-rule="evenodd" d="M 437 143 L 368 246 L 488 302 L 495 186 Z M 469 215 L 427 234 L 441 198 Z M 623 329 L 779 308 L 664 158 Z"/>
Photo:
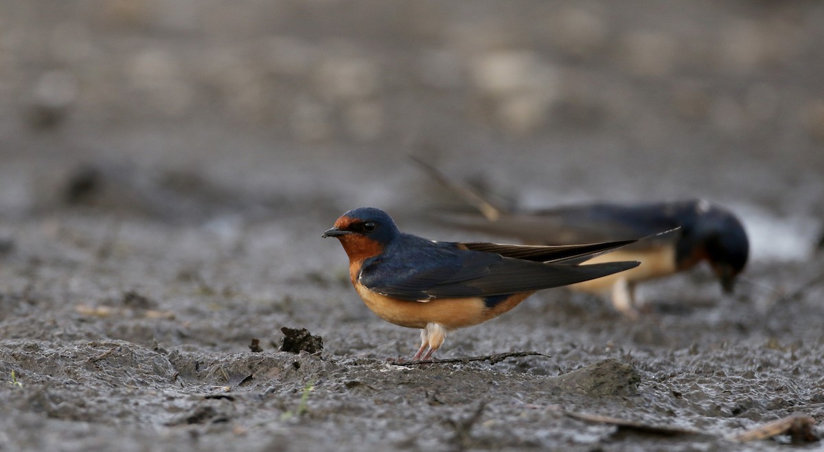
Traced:
<path fill-rule="evenodd" d="M 633 366 L 608 358 L 549 381 L 564 391 L 592 397 L 627 396 L 636 393 L 641 375 Z"/>

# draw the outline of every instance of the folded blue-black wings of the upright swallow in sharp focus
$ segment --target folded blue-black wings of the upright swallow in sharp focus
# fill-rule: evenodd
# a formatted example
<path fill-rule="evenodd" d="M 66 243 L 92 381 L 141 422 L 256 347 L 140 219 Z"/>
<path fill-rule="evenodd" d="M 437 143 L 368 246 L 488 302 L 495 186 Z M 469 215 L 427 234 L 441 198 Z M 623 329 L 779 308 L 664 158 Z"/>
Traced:
<path fill-rule="evenodd" d="M 391 262 L 364 263 L 363 286 L 401 300 L 507 295 L 604 277 L 637 262 L 577 265 L 632 240 L 573 246 L 433 243 L 405 247 Z"/>

